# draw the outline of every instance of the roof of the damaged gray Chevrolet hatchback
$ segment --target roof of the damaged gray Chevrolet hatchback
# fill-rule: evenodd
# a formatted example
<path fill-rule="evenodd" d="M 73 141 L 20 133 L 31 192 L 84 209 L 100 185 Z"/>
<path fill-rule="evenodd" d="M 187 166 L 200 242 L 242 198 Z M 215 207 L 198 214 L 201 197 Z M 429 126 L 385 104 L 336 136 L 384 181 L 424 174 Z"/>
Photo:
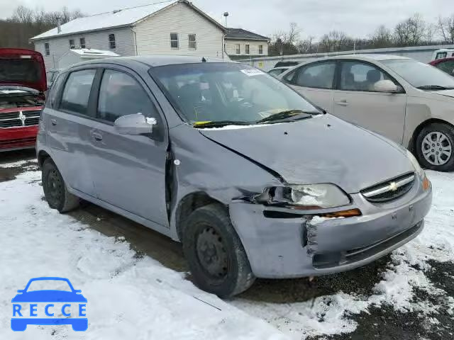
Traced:
<path fill-rule="evenodd" d="M 204 61 L 202 61 L 204 60 Z M 182 55 L 150 55 L 144 57 L 115 57 L 115 58 L 106 58 L 98 60 L 89 60 L 87 62 L 80 62 L 74 66 L 82 66 L 87 64 L 119 64 L 127 65 L 131 62 L 140 62 L 141 64 L 146 64 L 150 67 L 160 67 L 165 65 L 175 65 L 175 64 L 199 64 L 202 62 L 231 62 L 231 60 L 223 60 L 219 58 L 211 57 L 189 57 Z"/>

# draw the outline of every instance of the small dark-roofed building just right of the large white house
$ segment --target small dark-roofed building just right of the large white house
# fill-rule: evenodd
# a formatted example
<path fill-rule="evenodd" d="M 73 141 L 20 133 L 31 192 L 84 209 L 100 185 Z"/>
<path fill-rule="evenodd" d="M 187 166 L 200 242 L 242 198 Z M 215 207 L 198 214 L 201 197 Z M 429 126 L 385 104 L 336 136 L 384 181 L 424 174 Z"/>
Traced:
<path fill-rule="evenodd" d="M 227 55 L 234 59 L 267 57 L 270 38 L 242 28 L 227 28 L 224 43 Z"/>

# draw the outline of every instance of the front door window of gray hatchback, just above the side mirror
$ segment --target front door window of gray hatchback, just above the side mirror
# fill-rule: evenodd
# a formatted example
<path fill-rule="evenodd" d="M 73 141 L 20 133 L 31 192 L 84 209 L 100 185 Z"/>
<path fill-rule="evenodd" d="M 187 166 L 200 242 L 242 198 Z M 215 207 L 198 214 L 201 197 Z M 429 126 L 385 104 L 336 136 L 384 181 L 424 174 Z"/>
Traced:
<path fill-rule="evenodd" d="M 123 115 L 141 113 L 159 121 L 159 113 L 142 85 L 130 75 L 106 69 L 98 99 L 98 118 L 114 123 Z"/>

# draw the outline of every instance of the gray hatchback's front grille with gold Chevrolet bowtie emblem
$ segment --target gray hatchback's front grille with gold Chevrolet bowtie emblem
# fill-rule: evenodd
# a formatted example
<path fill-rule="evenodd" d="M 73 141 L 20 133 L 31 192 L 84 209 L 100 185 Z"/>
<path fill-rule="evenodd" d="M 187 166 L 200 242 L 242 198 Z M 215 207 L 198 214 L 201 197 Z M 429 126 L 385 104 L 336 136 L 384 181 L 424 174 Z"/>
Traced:
<path fill-rule="evenodd" d="M 414 173 L 405 174 L 395 179 L 371 186 L 361 191 L 362 196 L 371 203 L 386 203 L 397 200 L 408 193 L 414 185 Z"/>

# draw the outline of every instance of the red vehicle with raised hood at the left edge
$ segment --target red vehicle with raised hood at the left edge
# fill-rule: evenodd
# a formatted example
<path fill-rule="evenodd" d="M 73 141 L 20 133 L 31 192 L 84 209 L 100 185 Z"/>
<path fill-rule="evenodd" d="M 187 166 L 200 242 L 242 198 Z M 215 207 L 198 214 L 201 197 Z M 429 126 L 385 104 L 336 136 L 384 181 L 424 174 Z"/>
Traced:
<path fill-rule="evenodd" d="M 35 147 L 46 90 L 43 55 L 0 48 L 0 152 Z"/>

